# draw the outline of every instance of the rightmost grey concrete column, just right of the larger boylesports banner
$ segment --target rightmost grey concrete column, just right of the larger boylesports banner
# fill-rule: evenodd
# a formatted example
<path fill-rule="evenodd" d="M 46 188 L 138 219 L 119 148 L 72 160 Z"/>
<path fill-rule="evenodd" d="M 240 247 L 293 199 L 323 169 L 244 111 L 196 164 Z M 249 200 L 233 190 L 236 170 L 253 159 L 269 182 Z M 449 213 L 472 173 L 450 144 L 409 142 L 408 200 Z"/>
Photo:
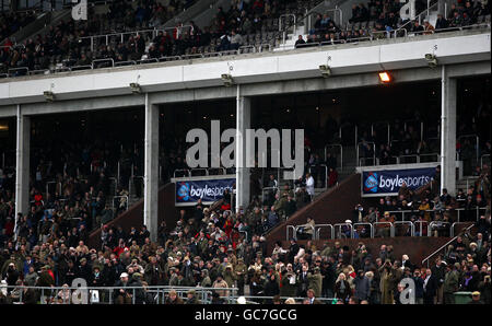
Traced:
<path fill-rule="evenodd" d="M 450 79 L 446 66 L 441 77 L 441 190 L 456 195 L 456 79 Z"/>

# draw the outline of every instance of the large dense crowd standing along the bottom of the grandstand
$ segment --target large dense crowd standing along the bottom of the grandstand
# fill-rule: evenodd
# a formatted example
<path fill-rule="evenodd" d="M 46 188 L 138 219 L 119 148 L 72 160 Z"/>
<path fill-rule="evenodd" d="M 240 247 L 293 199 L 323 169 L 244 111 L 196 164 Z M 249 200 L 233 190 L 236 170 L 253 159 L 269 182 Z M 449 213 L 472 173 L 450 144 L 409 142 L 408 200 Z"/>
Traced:
<path fill-rule="evenodd" d="M 473 292 L 476 298 L 481 295 L 476 301 L 490 303 L 490 214 L 485 223 L 477 223 L 476 235 L 461 233 L 430 268 L 408 255 L 397 257 L 393 246 L 372 252 L 363 242 L 354 248 L 339 242 L 316 247 L 311 241 L 300 245 L 292 238 L 289 248 L 277 243 L 269 253 L 265 237 L 250 230 L 249 219 L 199 202 L 191 211 L 180 211 L 172 230 L 162 223 L 157 242 L 150 241 L 144 226 L 129 232 L 105 226 L 98 248 L 87 247 L 77 231 L 34 246 L 22 237 L 9 241 L 0 267 L 10 288 L 0 291 L 0 300 L 19 301 L 19 292 L 24 291 L 23 302 L 35 303 L 40 300 L 38 292 L 15 286 L 67 288 L 82 278 L 99 288 L 99 300 L 106 303 L 109 292 L 104 287 L 116 287 L 112 290 L 114 303 L 152 304 L 155 298 L 149 286 L 198 286 L 216 289 L 214 303 L 224 302 L 232 293 L 229 289 L 237 288 L 237 295 L 268 296 L 260 299 L 266 303 L 292 298 L 288 302 L 399 304 L 405 289 L 401 280 L 411 278 L 418 304 L 454 303 L 457 291 Z M 249 232 L 244 233 L 246 230 Z M 131 287 L 142 288 L 132 291 Z M 70 293 L 68 289 L 49 293 L 43 299 L 47 303 L 71 300 L 63 295 Z M 197 293 L 190 290 L 187 298 L 179 298 L 171 291 L 166 303 L 200 303 Z"/>

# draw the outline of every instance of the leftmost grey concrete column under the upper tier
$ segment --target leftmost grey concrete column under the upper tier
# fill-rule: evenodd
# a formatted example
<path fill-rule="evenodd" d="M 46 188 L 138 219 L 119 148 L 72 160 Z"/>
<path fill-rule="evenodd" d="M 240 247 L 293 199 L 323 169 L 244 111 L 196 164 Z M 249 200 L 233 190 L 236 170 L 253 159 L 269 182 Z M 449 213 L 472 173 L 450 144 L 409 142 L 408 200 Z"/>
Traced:
<path fill-rule="evenodd" d="M 15 230 L 17 213 L 27 214 L 30 211 L 30 149 L 31 149 L 31 118 L 22 115 L 17 105 L 17 130 L 15 152 Z"/>

